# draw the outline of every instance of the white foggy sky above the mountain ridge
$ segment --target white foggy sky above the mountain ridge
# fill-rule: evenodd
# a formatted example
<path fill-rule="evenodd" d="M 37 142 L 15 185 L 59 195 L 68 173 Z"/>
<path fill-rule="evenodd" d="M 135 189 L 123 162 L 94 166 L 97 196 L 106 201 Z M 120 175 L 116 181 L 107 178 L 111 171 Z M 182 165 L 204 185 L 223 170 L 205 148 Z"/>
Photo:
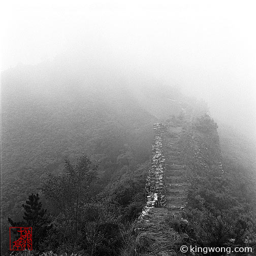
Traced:
<path fill-rule="evenodd" d="M 6 1 L 1 70 L 62 55 L 96 56 L 208 103 L 256 139 L 253 1 Z M 138 85 L 139 86 L 139 85 Z"/>

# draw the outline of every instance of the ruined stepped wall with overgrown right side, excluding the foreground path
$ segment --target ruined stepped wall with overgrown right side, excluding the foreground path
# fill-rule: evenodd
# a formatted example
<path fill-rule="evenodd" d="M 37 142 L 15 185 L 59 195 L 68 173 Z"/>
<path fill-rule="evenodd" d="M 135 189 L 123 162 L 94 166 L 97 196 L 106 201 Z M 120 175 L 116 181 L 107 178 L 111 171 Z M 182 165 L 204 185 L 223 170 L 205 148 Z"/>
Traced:
<path fill-rule="evenodd" d="M 165 124 L 155 123 L 153 129 L 147 204 L 141 217 L 152 208 L 182 212 L 198 175 L 223 174 L 217 125 L 209 116 L 194 121 L 173 118 Z"/>

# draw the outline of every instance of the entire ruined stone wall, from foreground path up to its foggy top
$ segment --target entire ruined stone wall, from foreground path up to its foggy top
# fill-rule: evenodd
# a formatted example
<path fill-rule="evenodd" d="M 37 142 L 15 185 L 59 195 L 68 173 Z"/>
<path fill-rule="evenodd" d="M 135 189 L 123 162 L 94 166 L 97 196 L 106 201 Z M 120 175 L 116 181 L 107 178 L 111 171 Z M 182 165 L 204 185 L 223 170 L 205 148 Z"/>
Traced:
<path fill-rule="evenodd" d="M 216 127 L 204 137 L 191 121 L 174 118 L 165 124 L 155 123 L 153 130 L 151 168 L 145 187 L 147 202 L 135 231 L 139 239 L 147 240 L 145 255 L 165 256 L 174 253 L 173 236 L 179 235 L 168 231 L 168 219 L 187 225 L 184 210 L 193 172 L 214 169 L 214 175 L 222 175 L 223 169 Z"/>

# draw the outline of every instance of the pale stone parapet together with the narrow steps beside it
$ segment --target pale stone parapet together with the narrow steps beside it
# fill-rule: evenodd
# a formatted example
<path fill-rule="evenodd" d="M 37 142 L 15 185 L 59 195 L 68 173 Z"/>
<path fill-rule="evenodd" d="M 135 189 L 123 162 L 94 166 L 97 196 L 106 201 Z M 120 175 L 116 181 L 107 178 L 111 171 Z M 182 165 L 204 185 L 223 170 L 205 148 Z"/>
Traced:
<path fill-rule="evenodd" d="M 164 124 L 155 123 L 153 129 L 152 163 L 146 181 L 147 206 L 143 209 L 142 217 L 153 207 L 183 210 L 187 201 L 186 167 L 177 161 L 180 152 L 176 143 L 182 127 L 171 129 L 174 136 L 165 141 L 172 154 L 167 154 L 163 149 Z"/>

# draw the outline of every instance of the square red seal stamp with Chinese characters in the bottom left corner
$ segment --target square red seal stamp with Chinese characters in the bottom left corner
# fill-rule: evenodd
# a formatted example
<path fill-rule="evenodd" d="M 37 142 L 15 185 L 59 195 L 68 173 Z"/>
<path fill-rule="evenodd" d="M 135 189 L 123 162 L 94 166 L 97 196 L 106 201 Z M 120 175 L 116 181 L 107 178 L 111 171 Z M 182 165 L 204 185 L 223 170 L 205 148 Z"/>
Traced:
<path fill-rule="evenodd" d="M 10 250 L 32 250 L 32 228 L 10 227 Z"/>

